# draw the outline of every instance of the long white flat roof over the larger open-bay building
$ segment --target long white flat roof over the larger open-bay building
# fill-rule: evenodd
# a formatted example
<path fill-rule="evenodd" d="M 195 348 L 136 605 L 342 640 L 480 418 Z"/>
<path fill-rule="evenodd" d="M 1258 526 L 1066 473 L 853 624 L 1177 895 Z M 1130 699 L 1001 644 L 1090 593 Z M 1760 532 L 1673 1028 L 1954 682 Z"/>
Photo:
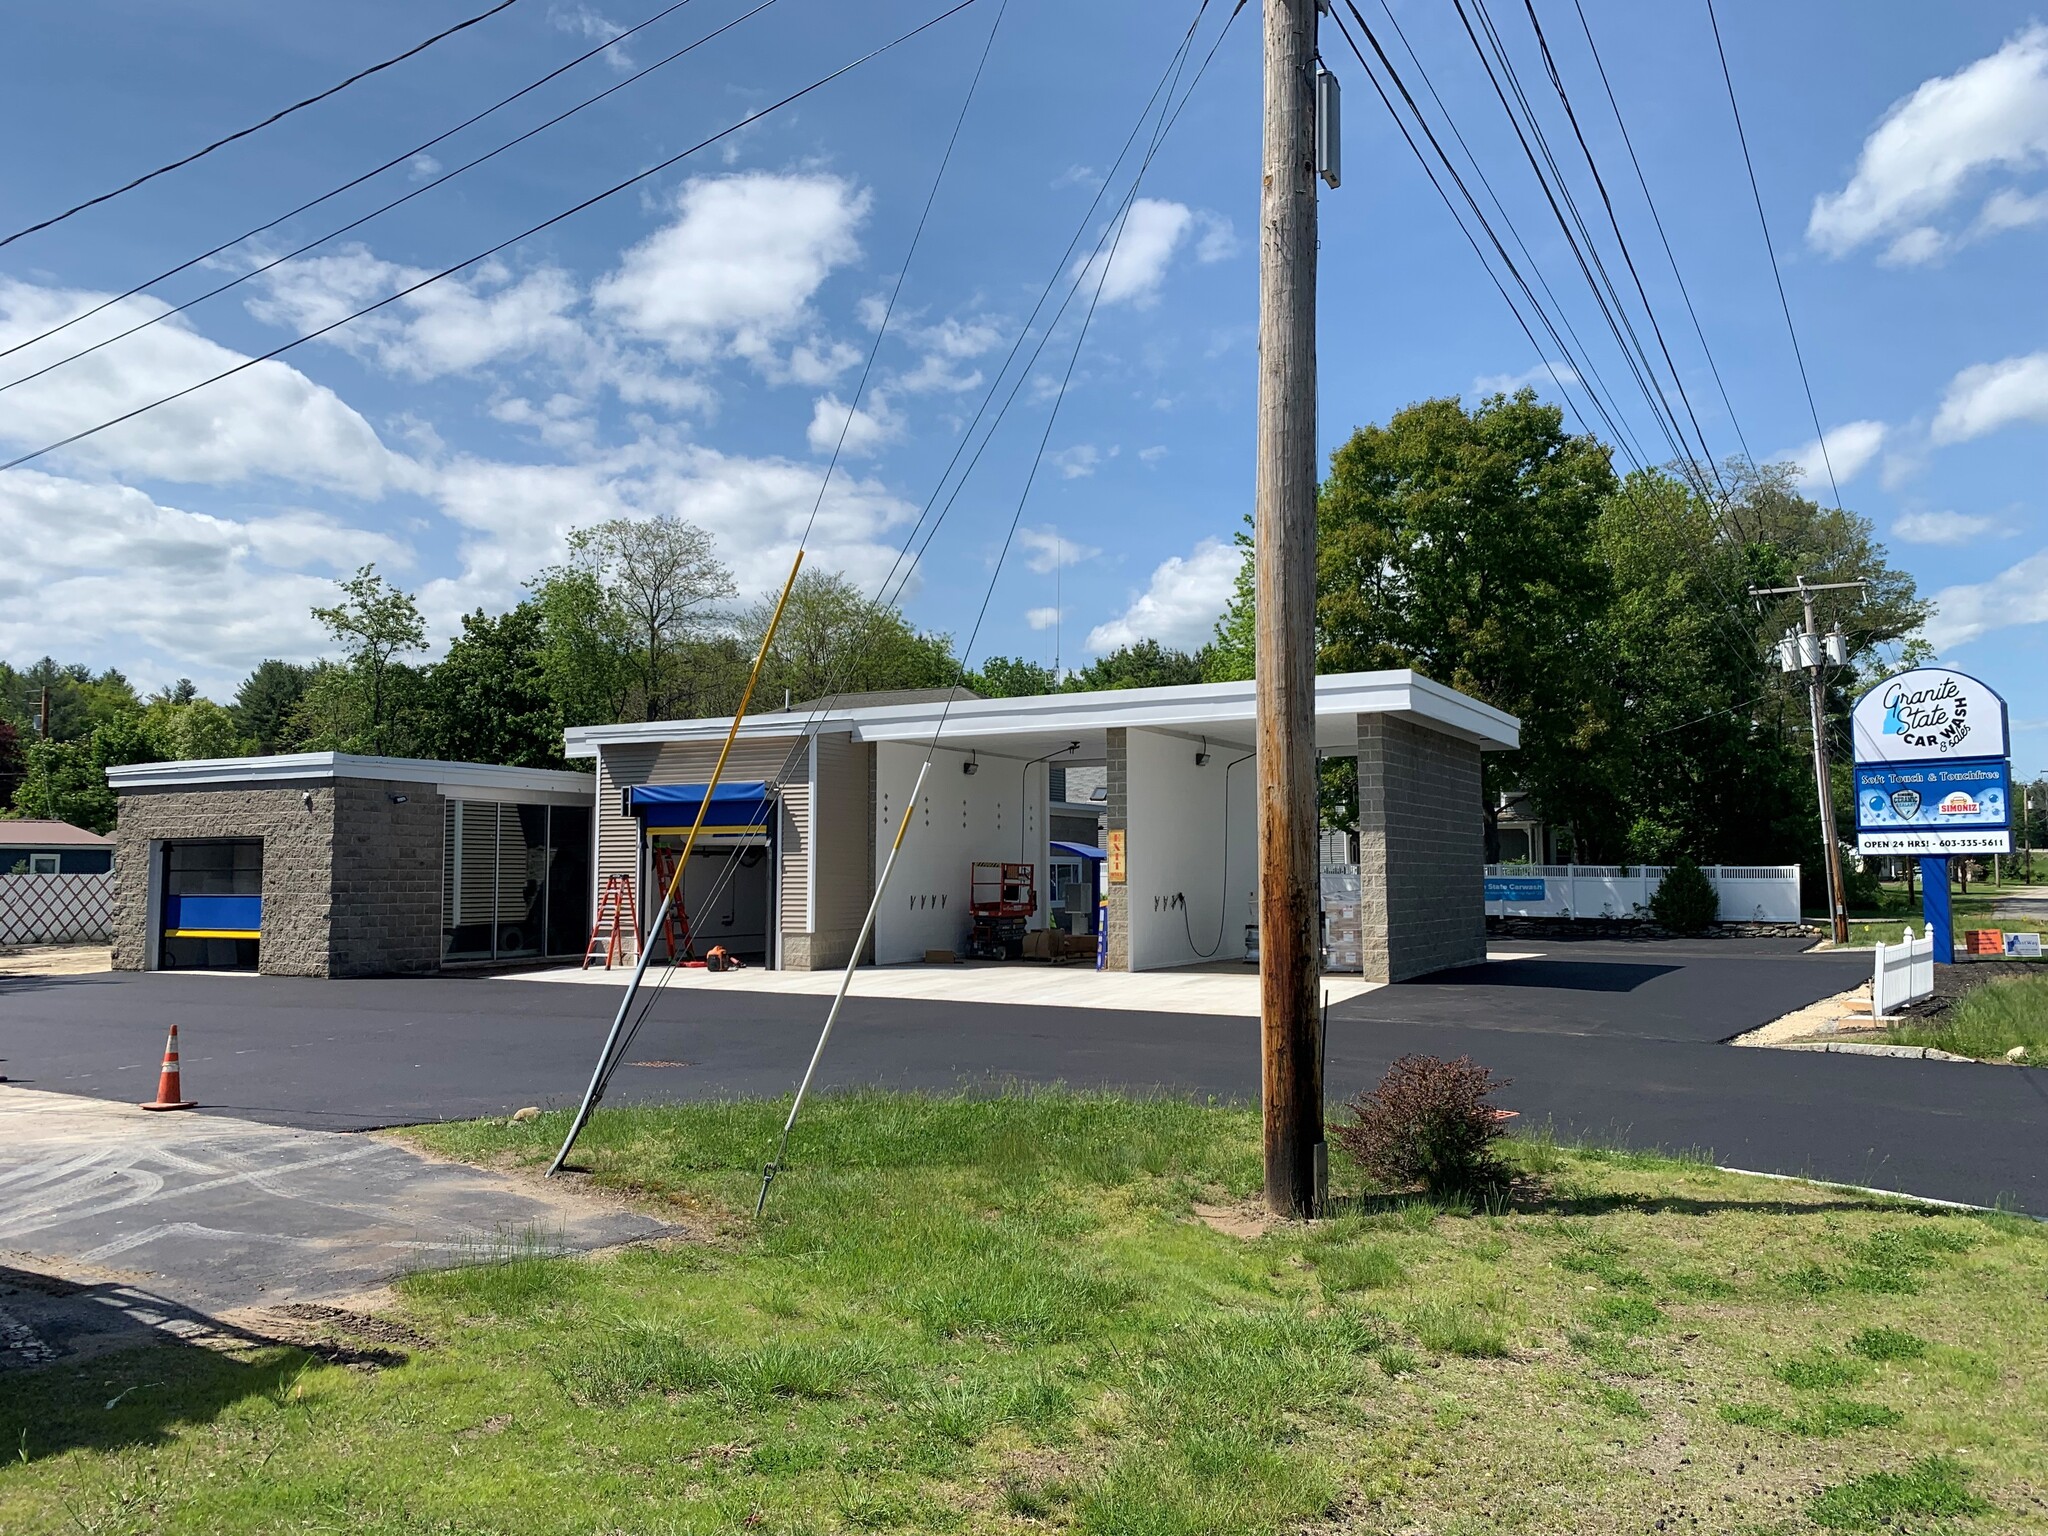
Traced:
<path fill-rule="evenodd" d="M 750 715 L 741 737 L 784 737 L 805 731 L 850 731 L 856 741 L 930 741 L 956 750 L 1030 758 L 1065 741 L 1100 752 L 1102 733 L 1118 727 L 1208 737 L 1219 745 L 1251 745 L 1255 684 L 1196 682 L 1178 688 L 1106 688 L 1100 692 L 1030 698 L 961 698 L 915 705 L 848 705 L 842 709 Z M 1315 680 L 1319 745 L 1343 750 L 1356 715 L 1393 715 L 1483 752 L 1522 745 L 1522 721 L 1446 688 L 1419 672 L 1335 672 Z M 721 741 L 731 717 L 582 725 L 567 731 L 565 754 L 592 758 L 600 748 L 653 741 Z"/>

